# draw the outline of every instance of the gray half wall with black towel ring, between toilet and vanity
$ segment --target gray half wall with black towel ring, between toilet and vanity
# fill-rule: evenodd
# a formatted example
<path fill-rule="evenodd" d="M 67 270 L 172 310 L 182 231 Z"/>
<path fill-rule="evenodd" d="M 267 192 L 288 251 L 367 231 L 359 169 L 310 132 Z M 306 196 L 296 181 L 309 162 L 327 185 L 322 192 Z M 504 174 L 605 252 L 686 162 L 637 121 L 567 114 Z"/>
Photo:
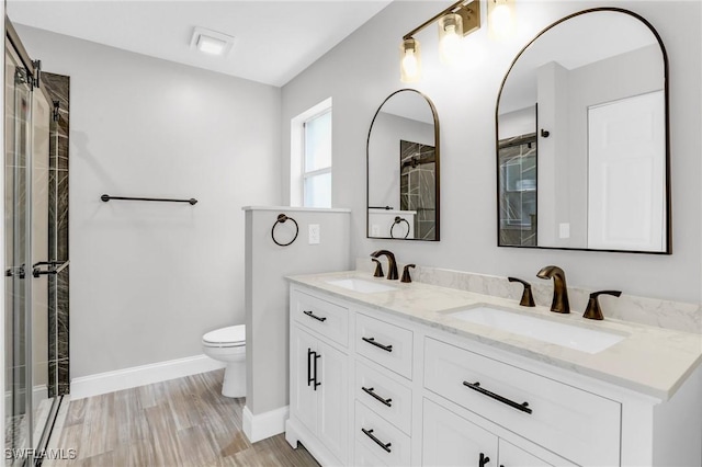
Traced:
<path fill-rule="evenodd" d="M 271 238 L 278 215 L 299 227 L 297 239 L 279 247 Z M 290 381 L 290 296 L 285 276 L 352 269 L 348 209 L 267 207 L 246 210 L 246 405 L 258 415 L 287 406 Z M 319 243 L 309 244 L 308 226 L 319 225 Z M 281 243 L 292 240 L 293 223 L 275 228 Z"/>

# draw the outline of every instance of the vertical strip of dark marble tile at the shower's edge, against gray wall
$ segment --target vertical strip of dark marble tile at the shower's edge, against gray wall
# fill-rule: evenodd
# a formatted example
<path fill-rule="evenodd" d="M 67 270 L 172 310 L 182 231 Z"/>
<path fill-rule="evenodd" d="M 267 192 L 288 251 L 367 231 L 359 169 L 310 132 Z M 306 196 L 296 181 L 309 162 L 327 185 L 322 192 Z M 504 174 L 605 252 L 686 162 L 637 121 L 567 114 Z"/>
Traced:
<path fill-rule="evenodd" d="M 59 264 L 68 261 L 68 128 L 70 78 L 42 73 L 54 109 L 58 103 L 57 118 L 52 123 L 49 143 L 49 258 Z M 49 352 L 48 396 L 69 392 L 69 267 L 49 275 Z"/>

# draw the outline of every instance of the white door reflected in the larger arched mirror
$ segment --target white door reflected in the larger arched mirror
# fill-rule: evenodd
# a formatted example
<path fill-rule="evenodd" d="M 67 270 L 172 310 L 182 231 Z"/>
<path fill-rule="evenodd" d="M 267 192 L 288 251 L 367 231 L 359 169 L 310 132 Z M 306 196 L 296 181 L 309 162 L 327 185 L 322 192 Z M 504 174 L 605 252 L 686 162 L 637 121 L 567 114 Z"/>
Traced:
<path fill-rule="evenodd" d="M 665 251 L 663 91 L 588 110 L 588 248 Z"/>

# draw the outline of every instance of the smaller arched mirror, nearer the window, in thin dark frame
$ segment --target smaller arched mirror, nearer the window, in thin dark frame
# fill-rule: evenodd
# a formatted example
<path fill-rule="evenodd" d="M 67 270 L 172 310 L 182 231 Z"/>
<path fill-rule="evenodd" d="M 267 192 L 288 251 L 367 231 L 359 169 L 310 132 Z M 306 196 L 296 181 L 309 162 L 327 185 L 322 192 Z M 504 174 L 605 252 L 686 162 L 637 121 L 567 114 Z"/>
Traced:
<path fill-rule="evenodd" d="M 439 118 L 414 89 L 390 94 L 366 147 L 367 237 L 439 240 Z"/>

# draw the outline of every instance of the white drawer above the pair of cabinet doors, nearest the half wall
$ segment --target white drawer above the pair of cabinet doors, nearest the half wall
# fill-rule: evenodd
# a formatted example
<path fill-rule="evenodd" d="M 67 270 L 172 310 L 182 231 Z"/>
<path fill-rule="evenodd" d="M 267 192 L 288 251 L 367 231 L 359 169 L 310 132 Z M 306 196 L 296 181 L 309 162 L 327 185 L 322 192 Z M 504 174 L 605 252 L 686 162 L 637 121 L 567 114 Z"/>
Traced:
<path fill-rule="evenodd" d="M 349 345 L 349 310 L 312 295 L 295 291 L 292 294 L 293 319 L 306 328 Z"/>

